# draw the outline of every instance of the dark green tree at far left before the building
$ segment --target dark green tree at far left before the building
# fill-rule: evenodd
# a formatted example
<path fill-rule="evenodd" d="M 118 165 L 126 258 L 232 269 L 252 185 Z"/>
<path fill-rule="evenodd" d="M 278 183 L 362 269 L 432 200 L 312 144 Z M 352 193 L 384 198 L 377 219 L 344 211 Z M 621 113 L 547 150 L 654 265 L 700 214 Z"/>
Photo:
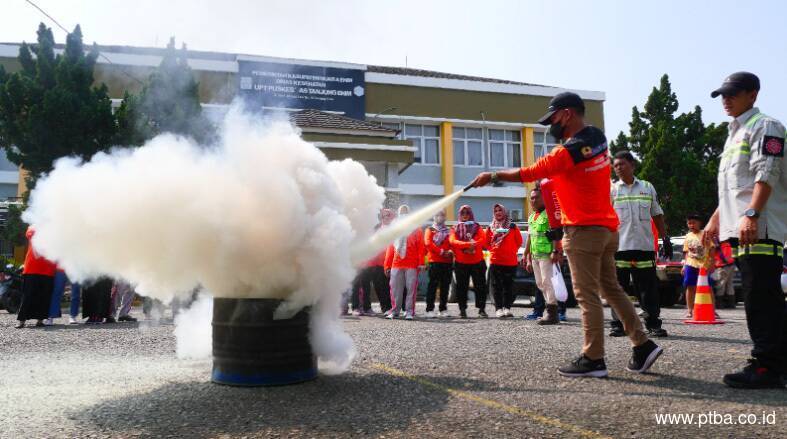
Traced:
<path fill-rule="evenodd" d="M 37 43 L 19 49 L 21 70 L 7 74 L 0 67 L 0 147 L 29 172 L 29 189 L 58 158 L 90 159 L 109 148 L 117 130 L 106 86 L 93 85 L 96 46 L 85 53 L 78 25 L 62 54 L 54 46 L 42 23 Z"/>

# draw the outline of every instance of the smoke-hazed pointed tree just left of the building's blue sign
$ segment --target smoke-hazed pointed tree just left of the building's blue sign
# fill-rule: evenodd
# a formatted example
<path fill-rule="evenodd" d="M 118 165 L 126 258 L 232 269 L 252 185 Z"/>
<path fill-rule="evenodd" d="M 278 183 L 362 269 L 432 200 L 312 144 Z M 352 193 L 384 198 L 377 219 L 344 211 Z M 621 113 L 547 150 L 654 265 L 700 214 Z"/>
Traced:
<path fill-rule="evenodd" d="M 214 138 L 214 127 L 202 114 L 199 83 L 188 65 L 186 46 L 175 49 L 174 38 L 142 91 L 126 93 L 116 115 L 117 142 L 123 145 L 142 145 L 164 132 L 189 136 L 199 143 Z"/>

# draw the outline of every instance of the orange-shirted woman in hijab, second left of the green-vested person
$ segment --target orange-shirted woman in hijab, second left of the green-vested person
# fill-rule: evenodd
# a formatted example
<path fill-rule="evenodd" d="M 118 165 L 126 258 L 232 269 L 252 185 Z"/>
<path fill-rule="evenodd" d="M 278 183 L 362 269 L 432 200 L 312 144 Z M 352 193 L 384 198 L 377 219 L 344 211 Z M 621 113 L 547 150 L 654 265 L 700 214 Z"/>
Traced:
<path fill-rule="evenodd" d="M 471 277 L 478 317 L 489 317 L 484 309 L 486 307 L 486 261 L 484 261 L 486 233 L 475 222 L 475 215 L 470 206 L 464 205 L 459 208 L 459 223 L 451 229 L 448 239 L 455 258 L 454 273 L 459 317 L 467 318 L 467 289 Z"/>

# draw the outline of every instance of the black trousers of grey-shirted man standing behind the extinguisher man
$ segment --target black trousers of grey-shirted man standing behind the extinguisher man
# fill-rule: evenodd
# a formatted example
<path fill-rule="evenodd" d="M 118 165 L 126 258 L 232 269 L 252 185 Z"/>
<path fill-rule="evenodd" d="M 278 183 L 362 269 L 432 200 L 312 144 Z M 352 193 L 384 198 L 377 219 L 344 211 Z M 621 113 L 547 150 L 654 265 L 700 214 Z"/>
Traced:
<path fill-rule="evenodd" d="M 618 264 L 618 283 L 626 294 L 633 295 L 639 292 L 639 306 L 648 313 L 645 327 L 648 329 L 661 328 L 661 299 L 659 297 L 659 279 L 656 276 L 656 252 L 641 250 L 625 250 L 615 253 L 615 262 L 653 262 L 652 267 L 621 267 Z M 633 283 L 632 283 L 633 279 Z M 612 327 L 623 328 L 623 323 L 612 311 Z"/>

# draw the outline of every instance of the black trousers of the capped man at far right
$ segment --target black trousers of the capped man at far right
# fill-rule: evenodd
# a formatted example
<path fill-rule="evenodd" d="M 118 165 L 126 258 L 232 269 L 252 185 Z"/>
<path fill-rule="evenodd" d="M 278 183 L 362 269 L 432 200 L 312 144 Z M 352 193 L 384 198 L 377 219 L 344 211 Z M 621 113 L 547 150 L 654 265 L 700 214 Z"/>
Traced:
<path fill-rule="evenodd" d="M 779 249 L 781 250 L 781 249 Z M 746 255 L 737 259 L 751 356 L 763 366 L 787 373 L 787 308 L 781 287 L 782 257 Z"/>

